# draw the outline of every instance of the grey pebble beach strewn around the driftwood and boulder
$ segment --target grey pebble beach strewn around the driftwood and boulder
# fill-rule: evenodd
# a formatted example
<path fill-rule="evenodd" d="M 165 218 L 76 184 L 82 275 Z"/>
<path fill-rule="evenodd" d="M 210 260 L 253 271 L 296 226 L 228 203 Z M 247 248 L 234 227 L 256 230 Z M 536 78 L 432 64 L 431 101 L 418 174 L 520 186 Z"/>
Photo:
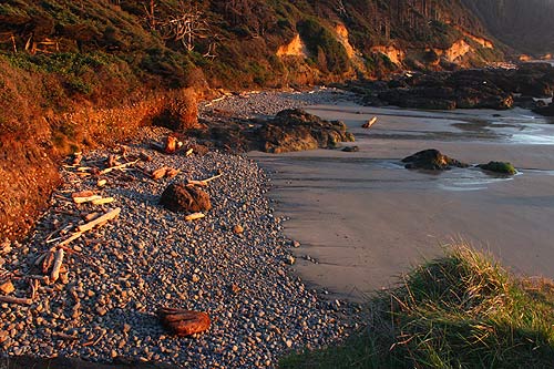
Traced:
<path fill-rule="evenodd" d="M 307 96 L 329 101 L 335 94 Z M 240 107 L 246 99 L 234 99 L 239 103 L 222 104 L 248 112 Z M 279 101 L 279 110 L 307 103 Z M 274 113 L 254 106 L 256 114 Z M 274 367 L 287 351 L 322 347 L 348 335 L 353 324 L 347 316 L 356 307 L 321 298 L 295 275 L 291 249 L 298 244 L 284 236 L 285 219 L 274 215 L 266 197 L 270 180 L 258 165 L 243 155 L 166 155 L 148 148 L 148 142 L 168 133 L 145 127 L 125 143 L 125 155 L 146 154 L 151 160 L 140 171 L 129 167 L 106 175 L 101 188 L 98 177 L 81 176 L 71 165 L 62 167 L 63 183 L 29 239 L 4 244 L 0 267 L 13 276 L 13 295 L 28 295 L 25 276 L 35 273 L 33 263 L 41 253 L 55 245 L 51 240 L 66 237 L 91 213 L 121 207 L 116 219 L 70 244 L 64 280 L 42 284 L 30 305 L 1 304 L 4 356 Z M 109 154 L 121 154 L 120 148 L 85 153 L 81 165 L 102 163 Z M 158 181 L 144 175 L 161 166 L 179 173 Z M 222 176 L 206 187 L 213 205 L 206 217 L 186 222 L 184 214 L 158 205 L 168 184 L 216 174 Z M 71 201 L 72 193 L 86 189 L 115 201 Z M 174 337 L 155 315 L 161 306 L 206 311 L 212 326 L 192 338 Z"/>

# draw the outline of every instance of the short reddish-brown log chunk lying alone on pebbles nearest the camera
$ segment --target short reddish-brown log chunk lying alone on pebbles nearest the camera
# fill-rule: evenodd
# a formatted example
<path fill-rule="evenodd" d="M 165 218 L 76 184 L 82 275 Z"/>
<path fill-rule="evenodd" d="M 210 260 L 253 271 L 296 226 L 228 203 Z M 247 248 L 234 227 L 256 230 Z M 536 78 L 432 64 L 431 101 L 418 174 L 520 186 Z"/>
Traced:
<path fill-rule="evenodd" d="M 192 336 L 209 328 L 211 319 L 206 312 L 162 307 L 156 311 L 162 324 L 178 337 Z"/>

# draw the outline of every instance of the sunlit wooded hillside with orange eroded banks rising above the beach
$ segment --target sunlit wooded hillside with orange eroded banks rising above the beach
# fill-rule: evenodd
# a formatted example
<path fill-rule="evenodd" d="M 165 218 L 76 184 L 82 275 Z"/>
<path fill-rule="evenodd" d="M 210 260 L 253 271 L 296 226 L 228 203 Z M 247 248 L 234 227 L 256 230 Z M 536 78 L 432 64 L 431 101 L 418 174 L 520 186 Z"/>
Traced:
<path fill-rule="evenodd" d="M 61 157 L 217 91 L 501 60 L 460 1 L 2 1 L 0 236 L 29 228 Z"/>

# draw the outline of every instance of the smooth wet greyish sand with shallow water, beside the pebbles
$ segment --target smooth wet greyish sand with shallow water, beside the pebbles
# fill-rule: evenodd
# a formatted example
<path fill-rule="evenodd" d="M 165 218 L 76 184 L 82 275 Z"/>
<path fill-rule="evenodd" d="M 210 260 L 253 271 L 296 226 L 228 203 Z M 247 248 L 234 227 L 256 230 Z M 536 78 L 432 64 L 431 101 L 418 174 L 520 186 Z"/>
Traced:
<path fill-rule="evenodd" d="M 301 243 L 295 268 L 305 281 L 359 300 L 460 238 L 515 273 L 554 277 L 554 125 L 546 119 L 524 110 L 421 112 L 345 103 L 309 111 L 345 121 L 360 152 L 250 154 L 271 173 L 269 195 L 278 214 L 290 217 L 287 235 Z M 375 115 L 371 130 L 360 129 Z M 510 161 L 521 174 L 430 174 L 399 163 L 431 147 L 472 164 Z"/>

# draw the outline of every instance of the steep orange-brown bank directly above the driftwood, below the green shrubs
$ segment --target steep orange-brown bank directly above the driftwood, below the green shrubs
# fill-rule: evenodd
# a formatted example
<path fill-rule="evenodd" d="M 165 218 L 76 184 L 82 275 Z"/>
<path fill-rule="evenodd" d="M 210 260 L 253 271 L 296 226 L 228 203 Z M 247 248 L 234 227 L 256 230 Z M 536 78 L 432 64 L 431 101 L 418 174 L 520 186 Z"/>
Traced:
<path fill-rule="evenodd" d="M 62 82 L 49 74 L 0 61 L 0 239 L 21 238 L 30 229 L 65 155 L 121 142 L 150 123 L 196 124 L 193 90 L 125 95 L 126 88 L 106 86 L 110 93 L 94 104 L 65 95 Z"/>

